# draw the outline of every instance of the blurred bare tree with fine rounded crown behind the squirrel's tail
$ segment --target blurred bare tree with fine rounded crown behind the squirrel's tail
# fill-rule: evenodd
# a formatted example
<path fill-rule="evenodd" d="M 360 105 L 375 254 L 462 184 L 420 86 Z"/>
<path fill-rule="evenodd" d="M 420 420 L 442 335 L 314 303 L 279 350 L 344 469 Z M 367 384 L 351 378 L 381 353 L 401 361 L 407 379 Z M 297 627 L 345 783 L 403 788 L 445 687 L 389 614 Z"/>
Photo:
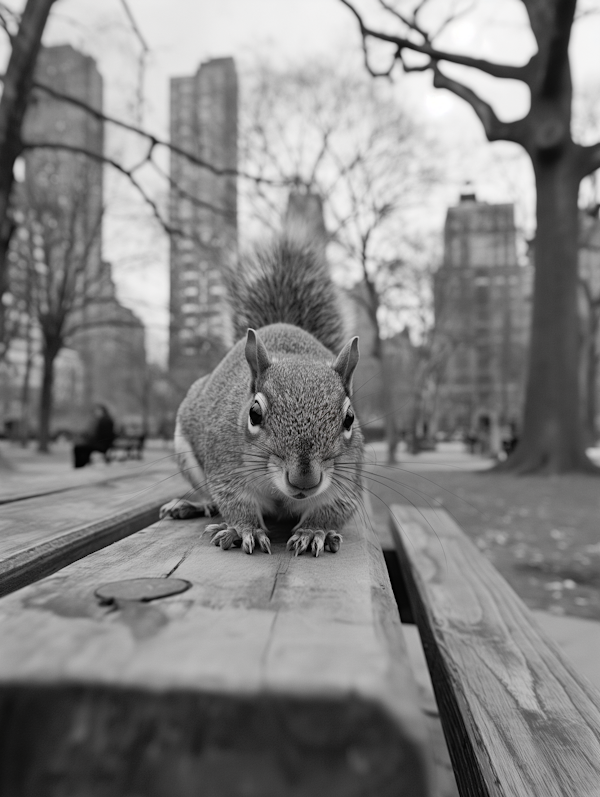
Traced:
<path fill-rule="evenodd" d="M 357 280 L 362 286 L 352 296 L 374 331 L 365 353 L 385 374 L 386 318 L 394 313 L 388 298 L 403 285 L 407 220 L 435 177 L 423 131 L 386 87 L 374 90 L 360 74 L 331 64 L 283 71 L 263 65 L 253 77 L 241 149 L 246 169 L 268 182 L 245 183 L 244 203 L 276 229 L 290 189 L 320 197 L 334 268 L 346 287 Z M 393 386 L 382 378 L 390 461 L 398 439 L 394 406 Z"/>

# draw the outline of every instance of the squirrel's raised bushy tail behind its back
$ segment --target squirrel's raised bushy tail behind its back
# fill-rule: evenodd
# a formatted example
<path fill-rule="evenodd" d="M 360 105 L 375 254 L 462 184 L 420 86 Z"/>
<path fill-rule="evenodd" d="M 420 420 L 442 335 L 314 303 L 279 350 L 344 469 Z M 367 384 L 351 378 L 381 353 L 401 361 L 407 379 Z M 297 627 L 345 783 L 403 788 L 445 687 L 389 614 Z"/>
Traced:
<path fill-rule="evenodd" d="M 242 256 L 227 282 L 236 339 L 248 327 L 286 323 L 310 332 L 333 352 L 344 345 L 338 290 L 323 252 L 303 232 L 288 230 Z"/>

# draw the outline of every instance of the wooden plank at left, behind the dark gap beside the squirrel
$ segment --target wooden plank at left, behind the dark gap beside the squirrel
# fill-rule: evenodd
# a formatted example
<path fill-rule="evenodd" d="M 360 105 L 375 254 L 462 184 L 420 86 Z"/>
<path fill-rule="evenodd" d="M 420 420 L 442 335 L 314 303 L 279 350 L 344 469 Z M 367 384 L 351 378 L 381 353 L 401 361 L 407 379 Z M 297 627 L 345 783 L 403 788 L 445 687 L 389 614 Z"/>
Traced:
<path fill-rule="evenodd" d="M 180 475 L 145 473 L 0 507 L 0 595 L 158 520 Z"/>

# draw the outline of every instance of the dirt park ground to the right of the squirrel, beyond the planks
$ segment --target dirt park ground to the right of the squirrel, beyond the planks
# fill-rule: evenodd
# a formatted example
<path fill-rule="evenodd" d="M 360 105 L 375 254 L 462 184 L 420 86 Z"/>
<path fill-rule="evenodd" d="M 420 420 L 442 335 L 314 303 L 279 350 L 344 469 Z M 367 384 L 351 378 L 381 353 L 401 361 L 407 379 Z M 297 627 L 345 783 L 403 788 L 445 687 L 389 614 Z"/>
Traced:
<path fill-rule="evenodd" d="M 367 470 L 380 527 L 391 503 L 443 507 L 530 608 L 600 620 L 600 477 Z"/>

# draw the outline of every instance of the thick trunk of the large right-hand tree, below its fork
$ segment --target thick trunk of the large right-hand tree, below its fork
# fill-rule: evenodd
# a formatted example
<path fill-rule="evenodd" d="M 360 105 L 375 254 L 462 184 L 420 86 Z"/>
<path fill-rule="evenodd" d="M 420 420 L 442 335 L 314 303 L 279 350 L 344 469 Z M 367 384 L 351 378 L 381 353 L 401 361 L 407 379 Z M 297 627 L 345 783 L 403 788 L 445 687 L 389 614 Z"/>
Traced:
<path fill-rule="evenodd" d="M 579 180 L 572 150 L 533 156 L 535 280 L 523 436 L 502 470 L 592 471 L 579 395 Z"/>

